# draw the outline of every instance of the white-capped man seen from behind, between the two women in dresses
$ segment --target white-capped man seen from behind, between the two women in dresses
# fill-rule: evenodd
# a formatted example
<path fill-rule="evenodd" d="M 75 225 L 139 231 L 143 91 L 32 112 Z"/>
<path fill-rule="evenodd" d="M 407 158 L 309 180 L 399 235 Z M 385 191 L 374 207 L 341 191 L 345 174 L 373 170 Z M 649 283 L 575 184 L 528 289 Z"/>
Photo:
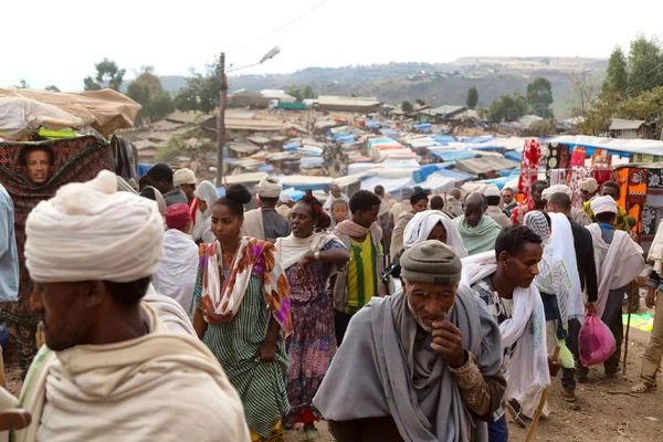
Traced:
<path fill-rule="evenodd" d="M 290 222 L 275 209 L 283 185 L 276 178 L 269 177 L 257 183 L 256 190 L 261 207 L 244 213 L 242 234 L 271 243 L 290 235 Z"/>

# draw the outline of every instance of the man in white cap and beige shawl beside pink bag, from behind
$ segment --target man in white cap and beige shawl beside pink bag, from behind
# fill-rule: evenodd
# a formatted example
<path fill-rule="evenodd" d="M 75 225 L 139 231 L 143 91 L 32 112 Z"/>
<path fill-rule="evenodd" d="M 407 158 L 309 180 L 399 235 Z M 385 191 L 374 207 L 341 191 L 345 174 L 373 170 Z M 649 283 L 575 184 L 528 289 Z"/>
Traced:
<path fill-rule="evenodd" d="M 591 201 L 597 222 L 587 227 L 591 233 L 599 281 L 598 317 L 606 323 L 617 344 L 614 354 L 603 362 L 606 376 L 619 371 L 623 324 L 621 318 L 624 287 L 644 269 L 642 249 L 629 233 L 615 230 L 617 202 L 612 197 L 597 197 Z"/>

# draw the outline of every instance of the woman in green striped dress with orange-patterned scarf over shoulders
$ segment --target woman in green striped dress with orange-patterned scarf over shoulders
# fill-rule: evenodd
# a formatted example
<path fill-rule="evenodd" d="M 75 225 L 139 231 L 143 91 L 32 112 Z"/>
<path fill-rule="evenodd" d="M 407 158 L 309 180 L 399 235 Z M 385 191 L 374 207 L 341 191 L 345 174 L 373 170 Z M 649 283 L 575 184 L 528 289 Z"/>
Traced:
<path fill-rule="evenodd" d="M 231 186 L 212 208 L 217 241 L 200 246 L 193 326 L 240 393 L 252 440 L 281 442 L 290 412 L 287 278 L 274 245 L 240 236 L 250 200 L 243 186 Z"/>

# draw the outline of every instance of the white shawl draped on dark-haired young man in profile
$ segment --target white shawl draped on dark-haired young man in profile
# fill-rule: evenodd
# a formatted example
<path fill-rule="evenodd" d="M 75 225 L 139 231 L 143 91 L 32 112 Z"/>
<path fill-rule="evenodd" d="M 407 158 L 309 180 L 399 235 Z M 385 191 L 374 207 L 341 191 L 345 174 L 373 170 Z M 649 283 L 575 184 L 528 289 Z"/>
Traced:
<path fill-rule="evenodd" d="M 495 252 L 493 262 L 473 264 L 474 256 L 463 260 L 461 284 L 467 287 L 497 270 Z M 514 345 L 514 352 L 506 366 L 507 393 L 511 399 L 522 402 L 528 394 L 536 394 L 550 385 L 548 350 L 546 346 L 546 315 L 541 296 L 532 284 L 529 288 L 517 287 L 514 291 L 513 318 L 499 324 L 502 348 Z"/>

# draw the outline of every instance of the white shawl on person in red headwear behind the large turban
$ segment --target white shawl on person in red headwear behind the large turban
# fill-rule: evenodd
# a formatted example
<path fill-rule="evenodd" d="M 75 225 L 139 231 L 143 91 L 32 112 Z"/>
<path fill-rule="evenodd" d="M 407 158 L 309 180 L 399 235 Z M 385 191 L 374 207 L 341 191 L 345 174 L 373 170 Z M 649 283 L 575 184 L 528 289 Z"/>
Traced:
<path fill-rule="evenodd" d="M 198 246 L 190 235 L 177 229 L 166 231 L 164 259 L 152 275 L 152 284 L 158 293 L 177 301 L 185 312 L 191 309 L 198 261 Z"/>

